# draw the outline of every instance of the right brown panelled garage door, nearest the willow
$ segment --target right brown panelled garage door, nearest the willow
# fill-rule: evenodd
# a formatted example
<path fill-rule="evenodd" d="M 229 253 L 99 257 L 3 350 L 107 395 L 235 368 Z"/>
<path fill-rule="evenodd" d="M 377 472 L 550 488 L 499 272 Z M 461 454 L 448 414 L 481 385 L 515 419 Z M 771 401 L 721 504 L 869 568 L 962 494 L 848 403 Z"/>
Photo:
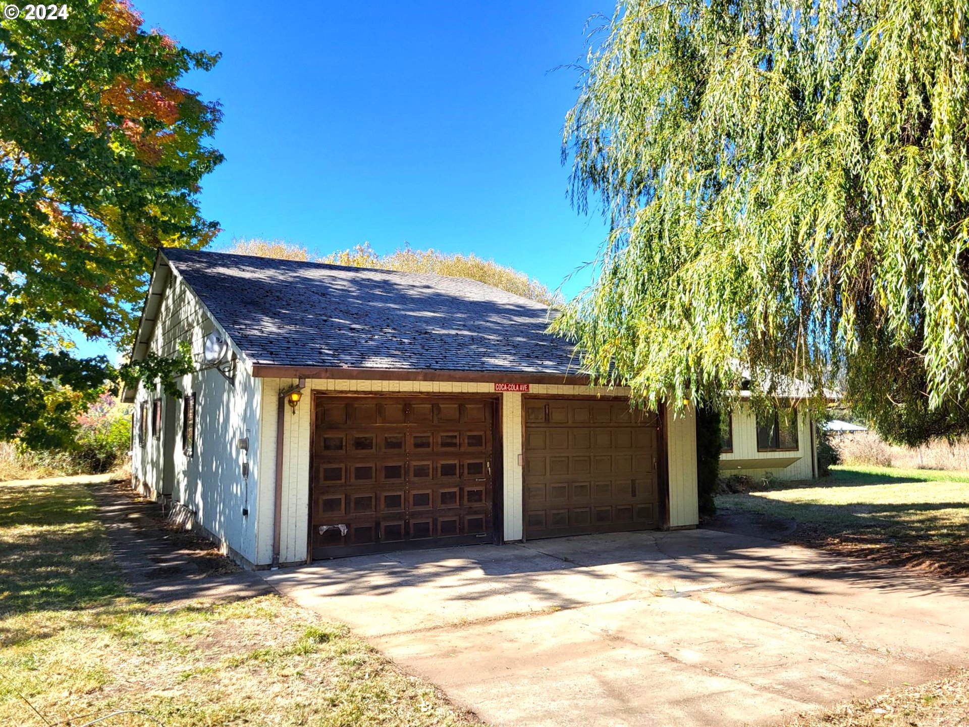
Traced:
<path fill-rule="evenodd" d="M 532 399 L 525 537 L 659 527 L 659 418 L 615 399 Z"/>

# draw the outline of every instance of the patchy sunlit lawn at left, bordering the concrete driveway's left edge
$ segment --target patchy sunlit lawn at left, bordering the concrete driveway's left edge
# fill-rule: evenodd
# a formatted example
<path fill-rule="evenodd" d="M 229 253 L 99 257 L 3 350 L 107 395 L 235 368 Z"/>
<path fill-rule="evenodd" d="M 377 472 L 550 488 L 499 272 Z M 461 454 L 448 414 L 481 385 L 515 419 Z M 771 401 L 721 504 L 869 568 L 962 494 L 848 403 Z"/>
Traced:
<path fill-rule="evenodd" d="M 467 725 L 432 686 L 279 596 L 126 594 L 87 490 L 0 484 L 0 724 Z"/>

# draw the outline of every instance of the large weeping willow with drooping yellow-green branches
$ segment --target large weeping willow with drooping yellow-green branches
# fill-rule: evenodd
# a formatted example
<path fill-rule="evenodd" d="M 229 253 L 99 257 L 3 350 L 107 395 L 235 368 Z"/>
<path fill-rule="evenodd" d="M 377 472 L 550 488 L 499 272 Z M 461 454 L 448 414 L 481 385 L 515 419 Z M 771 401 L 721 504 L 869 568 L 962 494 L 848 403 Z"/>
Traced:
<path fill-rule="evenodd" d="M 969 429 L 967 0 L 629 0 L 564 131 L 610 236 L 556 322 L 655 404 L 838 386 Z M 591 200 L 591 203 L 590 203 Z"/>

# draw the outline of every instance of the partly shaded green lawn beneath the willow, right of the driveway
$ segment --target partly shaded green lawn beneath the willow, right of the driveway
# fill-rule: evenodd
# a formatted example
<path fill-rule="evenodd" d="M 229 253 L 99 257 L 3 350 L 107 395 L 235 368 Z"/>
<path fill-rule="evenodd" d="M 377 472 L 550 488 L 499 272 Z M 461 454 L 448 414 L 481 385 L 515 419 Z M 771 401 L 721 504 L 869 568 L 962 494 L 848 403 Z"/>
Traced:
<path fill-rule="evenodd" d="M 820 481 L 717 496 L 722 515 L 795 524 L 789 540 L 940 575 L 969 575 L 969 473 L 837 466 Z"/>

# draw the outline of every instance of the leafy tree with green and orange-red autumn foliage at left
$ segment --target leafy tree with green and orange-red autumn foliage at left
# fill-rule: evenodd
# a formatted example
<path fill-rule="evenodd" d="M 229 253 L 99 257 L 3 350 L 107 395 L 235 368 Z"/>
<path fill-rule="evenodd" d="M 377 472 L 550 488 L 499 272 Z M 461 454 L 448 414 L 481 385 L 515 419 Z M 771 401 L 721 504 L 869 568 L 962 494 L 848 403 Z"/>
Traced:
<path fill-rule="evenodd" d="M 0 437 L 69 428 L 111 371 L 62 333 L 127 344 L 155 248 L 218 232 L 198 193 L 220 111 L 178 85 L 216 60 L 127 0 L 0 23 Z"/>

